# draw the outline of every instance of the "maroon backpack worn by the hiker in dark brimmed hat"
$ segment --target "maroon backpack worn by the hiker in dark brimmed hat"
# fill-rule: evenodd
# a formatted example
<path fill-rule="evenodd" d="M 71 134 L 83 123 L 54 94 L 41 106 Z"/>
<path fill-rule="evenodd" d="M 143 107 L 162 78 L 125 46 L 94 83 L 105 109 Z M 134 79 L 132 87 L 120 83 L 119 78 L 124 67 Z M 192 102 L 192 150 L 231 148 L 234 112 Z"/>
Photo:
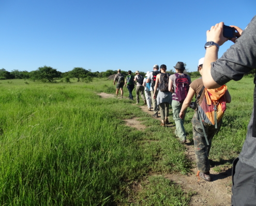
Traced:
<path fill-rule="evenodd" d="M 176 76 L 176 90 L 175 90 L 175 99 L 176 101 L 179 101 L 180 103 L 183 103 L 186 96 L 188 95 L 189 90 L 189 79 L 188 75 L 179 75 L 178 73 L 174 74 Z"/>

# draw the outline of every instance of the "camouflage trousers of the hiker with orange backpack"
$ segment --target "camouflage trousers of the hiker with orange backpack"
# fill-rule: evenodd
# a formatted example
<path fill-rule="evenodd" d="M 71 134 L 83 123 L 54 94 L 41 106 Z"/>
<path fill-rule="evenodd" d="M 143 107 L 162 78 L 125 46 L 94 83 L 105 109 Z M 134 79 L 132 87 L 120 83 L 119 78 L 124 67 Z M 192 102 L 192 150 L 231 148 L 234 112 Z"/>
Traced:
<path fill-rule="evenodd" d="M 200 123 L 200 119 L 198 119 L 197 112 L 194 113 L 191 122 L 193 126 L 195 161 L 197 162 L 198 170 L 202 173 L 207 173 L 210 171 L 210 163 L 208 160 L 210 146 L 212 146 L 212 139 L 214 135 L 220 129 L 221 121 L 218 123 L 217 129 L 215 129 L 215 125 L 208 125 L 203 123 L 209 145 L 206 143 L 204 132 Z"/>

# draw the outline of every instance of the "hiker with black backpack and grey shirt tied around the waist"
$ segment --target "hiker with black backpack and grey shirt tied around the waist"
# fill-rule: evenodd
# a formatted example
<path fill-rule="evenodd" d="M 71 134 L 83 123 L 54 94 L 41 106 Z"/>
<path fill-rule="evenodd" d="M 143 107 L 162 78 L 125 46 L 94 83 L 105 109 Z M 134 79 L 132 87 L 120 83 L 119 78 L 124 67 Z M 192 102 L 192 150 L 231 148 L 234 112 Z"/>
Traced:
<path fill-rule="evenodd" d="M 156 76 L 156 84 L 154 90 L 154 99 L 157 99 L 157 105 L 160 108 L 161 114 L 161 126 L 165 126 L 169 124 L 168 116 L 169 116 L 169 106 L 172 104 L 172 93 L 169 92 L 169 74 L 166 73 L 167 66 L 162 64 L 160 66 L 160 71 Z M 159 90 L 158 90 L 159 89 Z M 158 92 L 158 94 L 157 94 Z"/>

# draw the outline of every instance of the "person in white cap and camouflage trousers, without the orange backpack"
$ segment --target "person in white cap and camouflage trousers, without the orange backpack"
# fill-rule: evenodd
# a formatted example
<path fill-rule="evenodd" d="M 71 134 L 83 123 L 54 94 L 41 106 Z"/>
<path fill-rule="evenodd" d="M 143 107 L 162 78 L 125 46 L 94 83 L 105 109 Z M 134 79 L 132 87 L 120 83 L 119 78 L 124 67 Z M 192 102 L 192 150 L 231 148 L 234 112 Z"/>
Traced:
<path fill-rule="evenodd" d="M 202 75 L 203 70 L 203 63 L 204 58 L 201 58 L 198 63 L 198 72 Z M 229 91 L 226 89 L 227 87 L 223 87 L 223 94 L 225 102 L 218 102 L 218 105 L 221 104 L 221 107 L 223 108 L 225 103 L 231 102 L 231 96 L 229 94 Z M 221 92 L 221 90 L 219 90 Z M 209 91 L 210 92 L 210 91 Z M 220 96 L 220 92 L 218 96 Z M 179 112 L 179 117 L 184 118 L 185 111 L 188 107 L 191 107 L 192 109 L 195 109 L 195 113 L 192 118 L 192 127 L 193 127 L 193 141 L 194 141 L 194 153 L 195 153 L 195 161 L 197 162 L 197 168 L 198 168 L 198 176 L 206 181 L 210 181 L 210 163 L 209 163 L 209 151 L 210 147 L 212 145 L 212 139 L 214 135 L 219 131 L 221 127 L 221 118 L 218 119 L 218 123 L 216 125 L 212 125 L 209 123 L 206 123 L 206 121 L 202 121 L 202 115 L 203 111 L 200 109 L 200 105 L 203 101 L 205 101 L 204 98 L 205 94 L 205 88 L 203 84 L 202 77 L 195 79 L 191 84 L 188 91 L 188 95 L 186 99 L 183 102 L 182 109 Z M 196 106 L 193 106 L 191 104 L 193 96 L 196 96 L 197 99 L 193 104 L 196 104 Z M 210 95 L 213 96 L 213 95 Z M 218 112 L 220 112 L 219 110 Z M 202 114 L 201 114 L 202 113 Z M 201 115 L 201 116 L 199 116 Z M 208 141 L 208 143 L 206 142 Z"/>

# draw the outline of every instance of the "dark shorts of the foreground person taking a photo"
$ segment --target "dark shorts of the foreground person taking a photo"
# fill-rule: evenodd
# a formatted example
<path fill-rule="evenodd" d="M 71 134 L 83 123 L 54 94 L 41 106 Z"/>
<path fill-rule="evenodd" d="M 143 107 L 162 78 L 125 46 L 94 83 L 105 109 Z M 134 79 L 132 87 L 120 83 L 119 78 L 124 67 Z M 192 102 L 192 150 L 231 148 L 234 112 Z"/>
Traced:
<path fill-rule="evenodd" d="M 235 159 L 232 171 L 232 206 L 256 205 L 256 168 Z"/>

